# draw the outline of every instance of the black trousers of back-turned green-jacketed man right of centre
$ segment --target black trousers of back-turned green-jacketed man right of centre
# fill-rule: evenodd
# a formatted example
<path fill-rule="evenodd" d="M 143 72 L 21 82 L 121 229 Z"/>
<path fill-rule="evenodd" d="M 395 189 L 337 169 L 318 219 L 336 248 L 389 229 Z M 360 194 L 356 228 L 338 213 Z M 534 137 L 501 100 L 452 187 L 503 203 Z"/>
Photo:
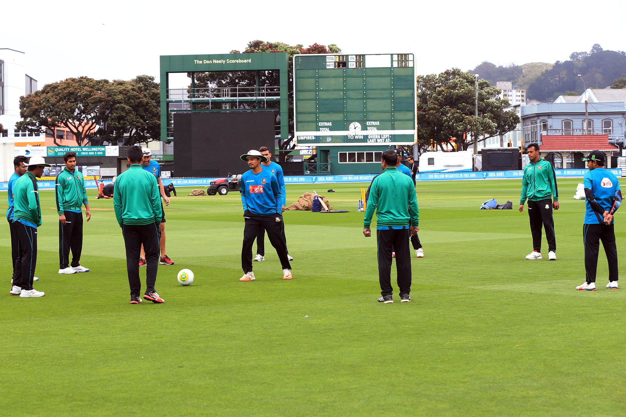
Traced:
<path fill-rule="evenodd" d="M 376 230 L 378 242 L 378 281 L 381 284 L 381 296 L 391 296 L 391 252 L 396 252 L 396 271 L 400 295 L 411 292 L 411 253 L 406 229 Z"/>

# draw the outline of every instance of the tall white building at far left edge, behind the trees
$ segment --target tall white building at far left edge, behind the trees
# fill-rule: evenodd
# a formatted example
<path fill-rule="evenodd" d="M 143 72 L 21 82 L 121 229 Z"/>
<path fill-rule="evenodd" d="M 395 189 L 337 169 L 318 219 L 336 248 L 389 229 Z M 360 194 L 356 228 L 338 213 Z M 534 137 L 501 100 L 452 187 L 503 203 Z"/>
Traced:
<path fill-rule="evenodd" d="M 15 123 L 19 116 L 19 98 L 37 90 L 37 80 L 26 74 L 26 56 L 23 52 L 0 48 L 0 143 L 14 143 L 41 136 L 40 133 L 17 131 Z M 26 139 L 21 139 L 26 137 Z M 41 136 L 43 140 L 43 136 Z"/>

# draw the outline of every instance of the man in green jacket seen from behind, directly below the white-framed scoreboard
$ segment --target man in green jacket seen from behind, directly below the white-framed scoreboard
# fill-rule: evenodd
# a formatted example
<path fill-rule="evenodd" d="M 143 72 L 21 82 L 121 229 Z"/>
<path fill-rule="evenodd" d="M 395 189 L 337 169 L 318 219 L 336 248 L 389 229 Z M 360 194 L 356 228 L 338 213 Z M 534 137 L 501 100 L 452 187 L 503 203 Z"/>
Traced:
<path fill-rule="evenodd" d="M 378 243 L 378 279 L 381 297 L 378 302 L 393 302 L 391 287 L 391 253 L 396 251 L 396 269 L 401 302 L 411 301 L 411 254 L 407 230 L 418 232 L 418 200 L 413 179 L 396 168 L 398 157 L 393 150 L 382 153 L 383 172 L 372 180 L 369 201 L 363 219 L 363 234 L 371 236 L 370 225 L 376 210 Z M 409 211 L 410 210 L 410 211 Z"/>

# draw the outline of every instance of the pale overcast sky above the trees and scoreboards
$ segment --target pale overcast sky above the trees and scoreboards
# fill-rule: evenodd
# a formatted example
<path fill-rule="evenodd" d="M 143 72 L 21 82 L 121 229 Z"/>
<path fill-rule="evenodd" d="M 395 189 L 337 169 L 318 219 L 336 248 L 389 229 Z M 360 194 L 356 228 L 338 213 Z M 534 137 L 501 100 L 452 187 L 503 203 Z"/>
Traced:
<path fill-rule="evenodd" d="M 553 63 L 626 50 L 624 1 L 5 1 L 0 48 L 26 53 L 46 83 L 73 76 L 157 78 L 159 56 L 242 51 L 248 41 L 337 44 L 344 53 L 413 53 L 418 74 Z M 591 19 L 588 19 L 590 18 Z M 177 87 L 171 85 L 172 88 Z"/>

